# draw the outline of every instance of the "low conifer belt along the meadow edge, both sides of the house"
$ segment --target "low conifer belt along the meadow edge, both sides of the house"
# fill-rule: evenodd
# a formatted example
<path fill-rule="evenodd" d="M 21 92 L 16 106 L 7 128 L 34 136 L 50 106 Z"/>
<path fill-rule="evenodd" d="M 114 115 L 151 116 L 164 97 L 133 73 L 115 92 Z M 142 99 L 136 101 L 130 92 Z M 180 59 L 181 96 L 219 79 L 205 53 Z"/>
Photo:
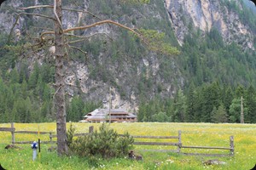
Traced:
<path fill-rule="evenodd" d="M 20 64 L 0 77 L 1 122 L 54 121 L 52 98 L 53 71 L 49 65 L 33 65 L 28 71 Z M 241 96 L 245 122 L 256 122 L 256 90 L 253 85 L 236 88 L 219 82 L 204 82 L 195 87 L 191 83 L 178 90 L 173 99 L 142 102 L 137 113 L 139 122 L 240 122 Z M 99 107 L 99 103 L 84 102 L 75 96 L 67 107 L 67 121 L 77 122 L 85 113 Z"/>

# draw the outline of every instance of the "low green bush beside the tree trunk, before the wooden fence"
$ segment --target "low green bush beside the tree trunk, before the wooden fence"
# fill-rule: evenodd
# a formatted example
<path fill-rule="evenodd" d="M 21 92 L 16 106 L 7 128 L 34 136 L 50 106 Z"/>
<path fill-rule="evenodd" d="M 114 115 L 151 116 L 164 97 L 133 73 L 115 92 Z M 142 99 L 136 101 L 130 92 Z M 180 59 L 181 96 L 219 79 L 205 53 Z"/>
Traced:
<path fill-rule="evenodd" d="M 103 123 L 99 133 L 96 131 L 77 139 L 69 139 L 69 141 L 72 141 L 72 144 L 69 144 L 69 149 L 74 155 L 100 156 L 108 159 L 127 155 L 134 140 L 129 133 L 119 136 L 118 133 Z"/>

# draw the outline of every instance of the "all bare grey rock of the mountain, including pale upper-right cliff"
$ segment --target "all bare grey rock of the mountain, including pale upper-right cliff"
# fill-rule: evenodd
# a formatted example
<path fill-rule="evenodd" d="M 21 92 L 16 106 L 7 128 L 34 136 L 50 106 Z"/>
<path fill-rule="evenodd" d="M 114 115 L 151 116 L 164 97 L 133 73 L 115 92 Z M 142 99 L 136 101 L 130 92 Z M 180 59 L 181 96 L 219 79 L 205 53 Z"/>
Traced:
<path fill-rule="evenodd" d="M 45 1 L 47 2 L 47 0 Z M 18 7 L 26 6 L 24 2 L 21 0 L 9 0 L 8 4 L 3 4 L 0 10 L 0 31 L 9 33 L 15 24 L 15 14 L 10 11 L 15 11 Z M 30 5 L 40 3 L 38 0 L 29 2 L 31 3 Z M 49 2 L 52 3 L 52 1 Z M 120 5 L 119 1 L 80 0 L 77 2 L 79 3 L 79 8 L 95 9 L 94 13 L 103 20 L 111 18 L 130 27 L 143 27 L 144 24 L 150 29 L 160 32 L 172 31 L 173 28 L 180 45 L 183 44 L 185 35 L 191 29 L 199 28 L 201 31 L 206 32 L 210 31 L 214 26 L 221 32 L 226 42 L 236 41 L 241 43 L 244 48 L 254 49 L 254 36 L 250 28 L 241 22 L 236 12 L 222 6 L 220 1 L 166 0 L 163 3 L 159 0 L 151 0 L 150 4 L 143 4 L 139 9 L 136 6 L 132 8 L 132 6 L 127 4 L 131 8 L 130 11 L 126 9 L 126 5 Z M 105 4 L 99 2 L 105 2 Z M 238 0 L 237 3 L 239 4 Z M 64 8 L 73 7 L 78 8 L 75 4 L 66 3 L 64 5 Z M 99 7 L 101 7 L 102 11 L 97 10 Z M 112 13 L 111 10 L 113 10 L 113 7 L 115 11 Z M 128 14 L 125 14 L 126 12 Z M 115 13 L 118 13 L 118 15 L 115 15 Z M 50 15 L 52 12 L 48 11 L 48 14 Z M 88 25 L 92 23 L 91 21 L 97 20 L 95 17 L 88 17 L 88 14 L 81 12 L 73 13 L 65 11 L 63 27 L 69 28 Z M 52 26 L 52 23 L 40 21 L 37 17 L 30 17 L 30 20 L 35 21 L 35 23 L 41 23 L 42 27 Z M 21 36 L 25 36 L 26 29 L 29 27 L 26 21 L 25 16 L 20 17 L 14 29 L 16 36 L 20 35 L 19 32 L 21 32 Z M 153 26 L 152 23 L 157 24 Z M 90 36 L 96 32 L 110 35 L 113 41 L 126 38 L 125 36 L 119 37 L 121 32 L 117 28 L 108 25 L 97 26 L 88 31 L 81 31 L 79 35 Z M 19 38 L 17 37 L 17 39 Z M 102 42 L 103 40 L 101 39 L 100 41 Z M 102 43 L 97 45 L 101 46 Z M 144 95 L 148 99 L 151 99 L 155 94 L 172 97 L 177 88 L 183 87 L 185 80 L 174 59 L 161 59 L 158 54 L 148 51 L 143 52 L 141 55 L 137 54 L 138 56 L 126 56 L 125 53 L 129 53 L 132 50 L 132 48 L 128 48 L 125 49 L 125 52 L 119 53 L 119 50 L 116 52 L 117 58 L 119 55 L 123 55 L 123 58 L 119 57 L 121 61 L 115 60 L 110 62 L 113 59 L 113 52 L 111 49 L 109 50 L 111 44 L 104 43 L 103 46 L 105 45 L 107 48 L 99 47 L 96 54 L 88 51 L 87 57 L 90 58 L 90 65 L 87 61 L 70 60 L 68 62 L 66 88 L 67 94 L 71 99 L 74 95 L 80 94 L 84 96 L 84 99 L 107 101 L 105 104 L 109 105 L 108 100 L 112 98 L 113 108 L 123 107 L 126 110 L 133 111 L 134 109 L 137 110 L 139 94 L 142 91 L 141 88 L 147 88 L 146 90 L 143 89 L 143 93 L 145 93 Z M 119 48 L 124 48 L 124 46 L 128 45 L 119 44 Z M 43 61 L 39 60 L 39 62 Z M 170 69 L 172 74 L 170 72 L 166 73 L 166 68 Z M 95 70 L 99 71 L 96 72 L 96 77 L 92 77 L 92 72 Z M 107 76 L 106 72 L 108 72 Z M 104 75 L 109 80 L 102 80 Z M 111 92 L 109 91 L 110 87 L 112 87 Z"/>

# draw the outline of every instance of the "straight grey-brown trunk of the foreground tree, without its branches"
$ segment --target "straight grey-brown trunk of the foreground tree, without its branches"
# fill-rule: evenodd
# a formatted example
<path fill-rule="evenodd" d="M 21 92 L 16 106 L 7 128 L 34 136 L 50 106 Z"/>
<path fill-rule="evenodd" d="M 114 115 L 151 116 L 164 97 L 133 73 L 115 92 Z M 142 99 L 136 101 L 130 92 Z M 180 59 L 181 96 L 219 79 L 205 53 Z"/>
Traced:
<path fill-rule="evenodd" d="M 62 23 L 61 0 L 56 0 L 56 14 Z M 67 154 L 66 103 L 64 82 L 64 37 L 61 26 L 55 20 L 55 111 L 58 155 Z"/>

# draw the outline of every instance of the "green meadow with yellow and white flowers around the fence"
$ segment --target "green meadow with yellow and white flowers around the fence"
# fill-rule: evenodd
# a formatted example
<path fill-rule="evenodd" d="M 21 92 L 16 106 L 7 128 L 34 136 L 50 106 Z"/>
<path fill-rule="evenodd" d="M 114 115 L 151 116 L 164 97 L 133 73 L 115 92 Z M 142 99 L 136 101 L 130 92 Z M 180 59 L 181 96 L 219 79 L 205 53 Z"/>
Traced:
<path fill-rule="evenodd" d="M 73 123 L 76 133 L 87 133 L 90 126 L 97 129 L 100 123 Z M 10 124 L 0 124 L 0 127 L 10 127 Z M 67 123 L 69 127 L 69 123 Z M 143 161 L 132 161 L 127 158 L 102 160 L 88 159 L 76 156 L 58 157 L 55 152 L 49 152 L 49 144 L 42 144 L 41 155 L 32 161 L 30 144 L 19 144 L 22 150 L 5 150 L 11 142 L 11 134 L 0 132 L 0 163 L 6 169 L 237 169 L 248 170 L 256 163 L 256 124 L 212 124 L 212 123 L 113 123 L 111 127 L 118 133 L 129 132 L 131 135 L 177 136 L 182 131 L 183 145 L 222 146 L 229 147 L 230 136 L 235 138 L 235 156 L 204 157 L 183 156 L 172 152 L 143 151 L 143 149 L 176 149 L 166 146 L 134 146 L 134 150 L 143 156 Z M 15 123 L 16 131 L 52 131 L 55 123 Z M 40 135 L 41 140 L 49 140 L 49 135 Z M 16 141 L 37 140 L 38 135 L 15 134 Z M 160 140 L 160 139 L 159 139 Z M 161 139 L 162 140 L 162 139 Z M 176 142 L 175 139 L 164 141 Z M 156 140 L 154 140 L 156 141 Z M 182 149 L 191 153 L 222 153 L 229 150 Z M 39 158 L 40 157 L 40 158 Z M 224 161 L 224 165 L 206 166 L 202 162 L 210 159 Z"/>

